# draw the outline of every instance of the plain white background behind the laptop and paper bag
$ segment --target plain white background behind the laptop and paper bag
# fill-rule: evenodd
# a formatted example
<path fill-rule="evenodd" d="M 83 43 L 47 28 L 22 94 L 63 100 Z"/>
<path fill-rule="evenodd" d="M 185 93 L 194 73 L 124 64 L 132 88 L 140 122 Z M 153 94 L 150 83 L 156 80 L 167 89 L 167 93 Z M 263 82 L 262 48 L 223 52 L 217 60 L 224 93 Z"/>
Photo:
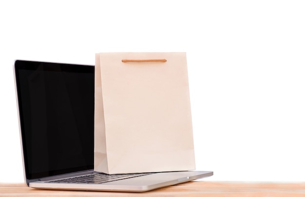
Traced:
<path fill-rule="evenodd" d="M 305 181 L 303 0 L 1 0 L 0 182 L 22 182 L 15 59 L 187 52 L 197 170 Z"/>

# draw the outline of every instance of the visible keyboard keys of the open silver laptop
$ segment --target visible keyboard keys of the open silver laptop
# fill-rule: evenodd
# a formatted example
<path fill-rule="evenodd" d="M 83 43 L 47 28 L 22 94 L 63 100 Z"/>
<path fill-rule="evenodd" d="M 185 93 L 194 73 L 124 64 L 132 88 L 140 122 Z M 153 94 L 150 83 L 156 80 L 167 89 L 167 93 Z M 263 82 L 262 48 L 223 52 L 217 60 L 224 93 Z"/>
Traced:
<path fill-rule="evenodd" d="M 118 181 L 122 179 L 129 179 L 133 177 L 141 177 L 145 175 L 149 175 L 153 173 L 137 173 L 137 174 L 117 174 L 117 175 L 108 175 L 108 174 L 89 174 L 89 175 L 82 175 L 77 177 L 70 177 L 66 179 L 58 179 L 53 181 L 46 181 L 46 182 L 54 182 L 54 183 L 94 183 L 100 184 L 105 182 L 111 181 Z"/>

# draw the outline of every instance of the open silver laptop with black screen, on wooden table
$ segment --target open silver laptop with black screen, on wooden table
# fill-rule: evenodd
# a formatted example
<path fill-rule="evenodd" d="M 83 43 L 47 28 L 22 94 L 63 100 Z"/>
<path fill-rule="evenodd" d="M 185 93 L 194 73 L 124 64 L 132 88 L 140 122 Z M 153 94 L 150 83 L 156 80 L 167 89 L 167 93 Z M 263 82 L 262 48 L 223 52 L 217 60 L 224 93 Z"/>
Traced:
<path fill-rule="evenodd" d="M 95 172 L 94 71 L 90 65 L 15 61 L 24 178 L 29 187 L 145 192 L 213 175 L 212 171 Z"/>

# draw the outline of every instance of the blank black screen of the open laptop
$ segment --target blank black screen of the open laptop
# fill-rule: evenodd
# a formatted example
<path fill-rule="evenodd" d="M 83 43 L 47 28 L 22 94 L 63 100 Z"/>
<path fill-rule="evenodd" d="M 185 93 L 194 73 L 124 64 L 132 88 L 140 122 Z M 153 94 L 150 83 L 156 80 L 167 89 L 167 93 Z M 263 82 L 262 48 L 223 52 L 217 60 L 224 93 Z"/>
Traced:
<path fill-rule="evenodd" d="M 17 60 L 26 179 L 94 168 L 94 66 Z"/>

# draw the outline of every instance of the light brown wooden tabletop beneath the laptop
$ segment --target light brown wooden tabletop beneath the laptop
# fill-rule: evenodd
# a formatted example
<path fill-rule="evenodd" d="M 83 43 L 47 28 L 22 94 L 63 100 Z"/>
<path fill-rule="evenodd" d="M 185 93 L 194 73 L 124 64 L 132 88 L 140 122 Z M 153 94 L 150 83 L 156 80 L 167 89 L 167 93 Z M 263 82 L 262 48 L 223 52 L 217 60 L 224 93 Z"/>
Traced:
<path fill-rule="evenodd" d="M 35 197 L 305 197 L 305 182 L 192 181 L 144 193 L 38 190 L 24 183 L 0 183 L 0 196 Z"/>

